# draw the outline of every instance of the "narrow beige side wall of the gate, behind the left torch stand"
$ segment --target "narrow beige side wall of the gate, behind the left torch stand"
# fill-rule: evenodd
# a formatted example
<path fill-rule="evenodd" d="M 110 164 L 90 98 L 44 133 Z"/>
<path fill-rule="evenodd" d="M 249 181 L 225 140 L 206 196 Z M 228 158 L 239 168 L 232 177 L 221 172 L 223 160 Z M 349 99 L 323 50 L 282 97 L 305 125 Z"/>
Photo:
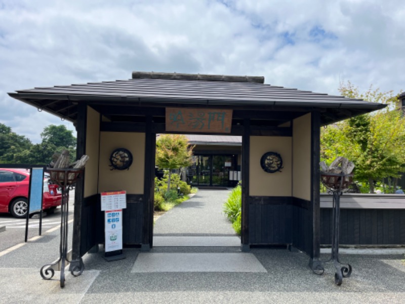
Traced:
<path fill-rule="evenodd" d="M 98 185 L 98 151 L 100 144 L 100 114 L 91 107 L 87 107 L 86 155 L 90 158 L 85 169 L 84 197 L 97 194 Z"/>

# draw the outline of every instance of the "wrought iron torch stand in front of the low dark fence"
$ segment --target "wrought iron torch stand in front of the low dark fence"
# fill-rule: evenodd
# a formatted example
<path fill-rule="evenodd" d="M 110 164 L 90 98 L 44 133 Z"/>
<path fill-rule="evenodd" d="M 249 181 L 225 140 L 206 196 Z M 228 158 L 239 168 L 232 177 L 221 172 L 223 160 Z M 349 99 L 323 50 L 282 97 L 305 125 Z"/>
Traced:
<path fill-rule="evenodd" d="M 322 264 L 333 261 L 335 265 L 335 284 L 342 285 L 343 278 L 351 275 L 351 265 L 342 263 L 339 260 L 339 219 L 340 219 L 340 196 L 342 190 L 351 183 L 351 174 L 333 174 L 321 172 L 322 183 L 333 193 L 332 205 L 332 250 L 331 258 L 326 261 L 318 261 L 316 267 L 312 270 L 315 274 L 321 275 L 325 271 Z"/>

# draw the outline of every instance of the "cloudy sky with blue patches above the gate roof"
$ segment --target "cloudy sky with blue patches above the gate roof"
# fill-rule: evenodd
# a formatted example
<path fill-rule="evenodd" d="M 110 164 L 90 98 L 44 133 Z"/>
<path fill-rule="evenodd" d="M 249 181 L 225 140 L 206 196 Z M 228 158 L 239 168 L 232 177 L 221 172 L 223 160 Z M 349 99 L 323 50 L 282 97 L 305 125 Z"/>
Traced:
<path fill-rule="evenodd" d="M 338 94 L 405 89 L 403 0 L 0 0 L 0 122 L 71 123 L 7 95 L 160 71 L 264 76 Z"/>

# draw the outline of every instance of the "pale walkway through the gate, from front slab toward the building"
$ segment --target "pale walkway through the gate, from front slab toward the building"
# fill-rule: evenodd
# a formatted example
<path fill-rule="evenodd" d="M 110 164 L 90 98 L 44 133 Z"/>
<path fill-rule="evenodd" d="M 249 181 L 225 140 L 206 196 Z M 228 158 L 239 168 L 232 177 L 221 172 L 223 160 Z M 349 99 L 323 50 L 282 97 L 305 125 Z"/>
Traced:
<path fill-rule="evenodd" d="M 190 200 L 159 217 L 154 226 L 153 246 L 163 248 L 160 252 L 139 254 L 132 271 L 266 272 L 252 253 L 237 252 L 240 238 L 223 213 L 229 193 L 200 189 Z M 186 252 L 185 248 L 193 252 Z M 201 252 L 201 248 L 205 250 Z M 218 248 L 221 252 L 216 252 Z"/>

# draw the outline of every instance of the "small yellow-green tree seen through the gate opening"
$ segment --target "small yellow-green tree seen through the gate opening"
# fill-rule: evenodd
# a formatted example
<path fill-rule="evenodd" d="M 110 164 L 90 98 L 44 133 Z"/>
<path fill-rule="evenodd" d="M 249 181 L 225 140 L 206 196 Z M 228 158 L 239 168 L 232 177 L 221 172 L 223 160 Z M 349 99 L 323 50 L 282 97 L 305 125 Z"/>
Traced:
<path fill-rule="evenodd" d="M 156 166 L 169 170 L 168 192 L 172 170 L 191 165 L 192 149 L 184 135 L 164 134 L 156 140 Z"/>

